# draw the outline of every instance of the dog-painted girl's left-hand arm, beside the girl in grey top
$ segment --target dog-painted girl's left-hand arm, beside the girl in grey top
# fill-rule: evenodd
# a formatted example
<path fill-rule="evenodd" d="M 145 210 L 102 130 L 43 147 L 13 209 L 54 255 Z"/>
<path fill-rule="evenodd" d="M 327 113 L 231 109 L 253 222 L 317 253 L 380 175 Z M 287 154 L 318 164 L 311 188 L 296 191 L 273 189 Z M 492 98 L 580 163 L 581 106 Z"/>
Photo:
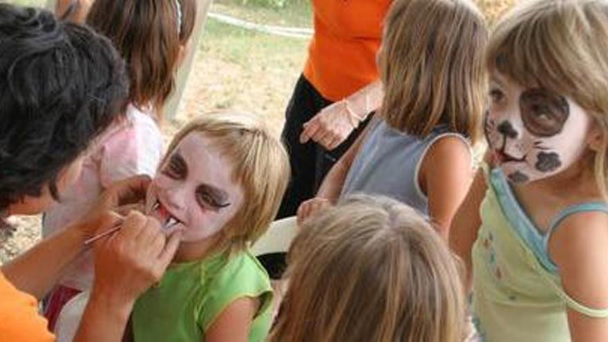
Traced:
<path fill-rule="evenodd" d="M 489 161 L 489 154 L 486 155 Z M 462 259 L 466 267 L 465 285 L 466 289 L 471 289 L 471 274 L 473 263 L 471 260 L 471 249 L 477 240 L 477 229 L 482 225 L 482 218 L 479 216 L 479 207 L 486 195 L 486 177 L 484 170 L 480 167 L 477 170 L 473 184 L 468 190 L 466 198 L 452 219 L 449 233 L 450 249 Z"/>

